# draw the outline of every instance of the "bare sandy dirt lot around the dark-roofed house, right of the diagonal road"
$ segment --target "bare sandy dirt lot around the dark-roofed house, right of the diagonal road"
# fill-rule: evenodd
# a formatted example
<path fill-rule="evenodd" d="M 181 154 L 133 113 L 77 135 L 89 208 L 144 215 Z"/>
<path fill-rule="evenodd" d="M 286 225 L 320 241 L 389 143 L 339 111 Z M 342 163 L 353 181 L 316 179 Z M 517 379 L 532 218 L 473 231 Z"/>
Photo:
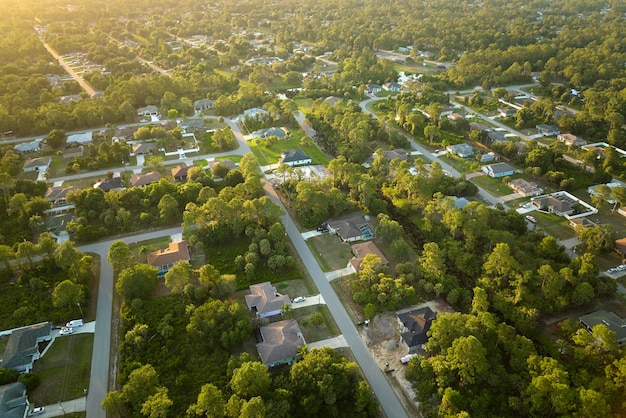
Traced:
<path fill-rule="evenodd" d="M 389 382 L 398 393 L 398 397 L 404 401 L 405 409 L 408 412 L 418 413 L 419 406 L 417 401 L 415 401 L 415 391 L 411 383 L 404 377 L 406 365 L 400 361 L 400 358 L 406 356 L 408 351 L 406 346 L 400 341 L 400 327 L 397 315 L 426 306 L 437 313 L 454 312 L 443 301 L 430 301 L 401 311 L 377 315 L 370 321 L 368 327 L 360 329 L 361 338 L 372 353 L 374 361 L 376 361 L 381 370 L 387 371 L 386 375 Z"/>

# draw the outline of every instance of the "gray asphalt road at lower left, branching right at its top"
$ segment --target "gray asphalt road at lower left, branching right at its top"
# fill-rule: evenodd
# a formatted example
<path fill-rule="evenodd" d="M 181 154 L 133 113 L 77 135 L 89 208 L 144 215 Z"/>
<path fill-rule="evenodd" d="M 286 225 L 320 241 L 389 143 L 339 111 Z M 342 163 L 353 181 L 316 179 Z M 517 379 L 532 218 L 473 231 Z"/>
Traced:
<path fill-rule="evenodd" d="M 106 418 L 102 400 L 109 390 L 109 365 L 111 353 L 111 320 L 113 310 L 113 266 L 107 261 L 109 246 L 117 240 L 127 243 L 143 241 L 165 235 L 180 234 L 181 227 L 137 234 L 129 237 L 97 242 L 78 247 L 83 252 L 100 255 L 100 286 L 96 310 L 96 330 L 91 355 L 91 377 L 87 392 L 87 418 Z"/>

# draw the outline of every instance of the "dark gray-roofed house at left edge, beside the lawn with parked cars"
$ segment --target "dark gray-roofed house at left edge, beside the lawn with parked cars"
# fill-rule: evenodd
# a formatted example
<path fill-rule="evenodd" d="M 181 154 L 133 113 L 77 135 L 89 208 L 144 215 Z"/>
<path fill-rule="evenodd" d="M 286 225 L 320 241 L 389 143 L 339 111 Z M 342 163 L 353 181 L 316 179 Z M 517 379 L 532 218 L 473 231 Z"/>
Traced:
<path fill-rule="evenodd" d="M 20 373 L 29 372 L 35 360 L 41 357 L 39 350 L 44 346 L 42 343 L 52 339 L 51 331 L 52 322 L 42 322 L 13 330 L 4 350 L 2 367 Z"/>

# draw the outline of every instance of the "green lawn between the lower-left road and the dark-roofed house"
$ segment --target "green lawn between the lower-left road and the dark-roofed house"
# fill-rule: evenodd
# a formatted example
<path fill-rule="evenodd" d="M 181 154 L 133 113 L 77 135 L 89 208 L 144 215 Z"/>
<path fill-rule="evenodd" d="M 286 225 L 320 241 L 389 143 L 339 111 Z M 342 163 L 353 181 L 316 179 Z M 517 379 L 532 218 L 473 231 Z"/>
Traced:
<path fill-rule="evenodd" d="M 89 388 L 93 334 L 56 338 L 45 356 L 35 362 L 41 384 L 29 394 L 34 405 L 80 398 Z"/>

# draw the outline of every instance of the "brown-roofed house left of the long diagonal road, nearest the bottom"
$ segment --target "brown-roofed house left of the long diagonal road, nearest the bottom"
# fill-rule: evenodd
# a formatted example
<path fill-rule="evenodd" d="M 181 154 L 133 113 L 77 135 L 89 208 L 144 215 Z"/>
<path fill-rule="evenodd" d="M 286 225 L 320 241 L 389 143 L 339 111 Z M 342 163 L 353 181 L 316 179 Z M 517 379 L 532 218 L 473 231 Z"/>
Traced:
<path fill-rule="evenodd" d="M 300 347 L 306 344 L 295 319 L 274 322 L 259 329 L 262 342 L 256 345 L 261 362 L 268 368 L 293 364 Z"/>

